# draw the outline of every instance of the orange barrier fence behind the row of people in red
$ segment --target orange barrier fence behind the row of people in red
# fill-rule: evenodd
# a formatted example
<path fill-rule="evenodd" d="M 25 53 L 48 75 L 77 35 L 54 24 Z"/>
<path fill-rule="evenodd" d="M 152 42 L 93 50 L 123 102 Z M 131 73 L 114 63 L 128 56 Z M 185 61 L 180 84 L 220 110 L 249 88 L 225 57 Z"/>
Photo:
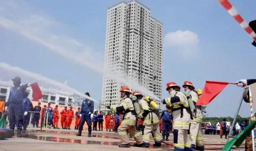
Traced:
<path fill-rule="evenodd" d="M 31 101 L 31 103 L 33 104 L 34 107 L 38 105 L 38 101 Z M 48 106 L 48 103 L 41 102 L 40 107 L 43 108 L 44 105 Z M 52 107 L 52 108 L 55 108 L 56 105 L 57 105 L 57 104 L 51 104 L 51 107 Z M 61 115 L 60 115 L 60 112 L 61 112 L 62 110 L 64 110 L 64 107 L 65 107 L 65 106 L 66 106 L 66 105 L 58 105 L 58 110 L 59 110 L 58 127 L 61 127 L 61 123 L 60 123 Z M 68 110 L 69 110 L 69 106 L 68 106 Z M 74 114 L 75 114 L 75 112 L 77 111 L 77 107 L 73 107 L 73 111 L 74 111 Z M 103 129 L 105 129 L 105 116 L 103 117 L 103 119 L 104 119 L 104 121 L 103 121 Z M 41 119 L 39 120 L 39 123 L 41 124 Z M 93 125 L 93 123 L 92 123 L 92 125 Z M 73 118 L 70 127 L 75 127 L 75 117 Z M 97 127 L 98 127 L 98 126 L 97 126 Z M 85 122 L 85 124 L 84 124 L 84 129 L 87 130 L 87 128 L 88 128 L 88 127 L 87 127 L 87 124 L 86 124 L 86 122 Z"/>

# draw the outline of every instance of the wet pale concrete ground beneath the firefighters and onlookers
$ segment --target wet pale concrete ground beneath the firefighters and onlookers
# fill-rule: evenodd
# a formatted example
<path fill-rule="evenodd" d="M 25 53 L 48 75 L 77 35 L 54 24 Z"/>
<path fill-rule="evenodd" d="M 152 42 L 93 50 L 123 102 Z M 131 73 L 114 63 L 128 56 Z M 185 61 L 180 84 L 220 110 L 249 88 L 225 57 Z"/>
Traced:
<path fill-rule="evenodd" d="M 150 150 L 150 151 L 171 151 L 172 146 L 162 144 L 161 148 L 153 148 L 154 140 L 150 139 L 150 148 L 118 148 L 120 140 L 118 133 L 106 131 L 93 131 L 93 137 L 87 137 L 87 131 L 83 131 L 83 136 L 75 136 L 77 130 L 28 128 L 25 138 L 8 138 L 0 140 L 0 151 L 128 151 Z M 169 137 L 168 144 L 173 142 L 173 136 Z M 130 138 L 133 144 L 134 139 Z M 226 139 L 221 139 L 216 135 L 204 135 L 205 150 L 218 150 L 225 144 Z"/>

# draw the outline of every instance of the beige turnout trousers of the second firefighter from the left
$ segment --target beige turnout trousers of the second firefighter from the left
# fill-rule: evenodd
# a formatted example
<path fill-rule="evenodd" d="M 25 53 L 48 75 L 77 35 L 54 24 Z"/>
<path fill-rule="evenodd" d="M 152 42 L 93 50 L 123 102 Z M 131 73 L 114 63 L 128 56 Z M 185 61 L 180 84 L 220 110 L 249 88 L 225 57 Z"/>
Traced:
<path fill-rule="evenodd" d="M 161 134 L 159 130 L 159 123 L 145 125 L 144 135 L 142 135 L 142 139 L 144 142 L 150 142 L 150 134 L 152 134 L 156 143 L 161 143 Z"/>

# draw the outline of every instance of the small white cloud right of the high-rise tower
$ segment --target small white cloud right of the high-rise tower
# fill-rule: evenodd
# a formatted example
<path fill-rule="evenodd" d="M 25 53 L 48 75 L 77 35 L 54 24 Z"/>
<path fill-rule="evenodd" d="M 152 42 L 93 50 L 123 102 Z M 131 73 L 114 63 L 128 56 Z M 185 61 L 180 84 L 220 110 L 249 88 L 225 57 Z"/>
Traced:
<path fill-rule="evenodd" d="M 197 53 L 199 43 L 198 35 L 189 30 L 169 32 L 163 38 L 165 48 L 179 50 L 184 55 L 193 55 Z"/>

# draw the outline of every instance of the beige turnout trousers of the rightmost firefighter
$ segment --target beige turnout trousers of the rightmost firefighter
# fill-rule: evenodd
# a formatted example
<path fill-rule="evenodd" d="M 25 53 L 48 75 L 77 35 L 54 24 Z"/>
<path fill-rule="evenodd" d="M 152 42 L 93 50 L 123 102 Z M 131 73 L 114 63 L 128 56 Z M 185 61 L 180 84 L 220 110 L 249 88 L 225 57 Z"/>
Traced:
<path fill-rule="evenodd" d="M 203 133 L 201 128 L 202 123 L 199 122 L 191 122 L 189 129 L 189 137 L 191 140 L 191 146 L 194 150 L 203 151 Z"/>

